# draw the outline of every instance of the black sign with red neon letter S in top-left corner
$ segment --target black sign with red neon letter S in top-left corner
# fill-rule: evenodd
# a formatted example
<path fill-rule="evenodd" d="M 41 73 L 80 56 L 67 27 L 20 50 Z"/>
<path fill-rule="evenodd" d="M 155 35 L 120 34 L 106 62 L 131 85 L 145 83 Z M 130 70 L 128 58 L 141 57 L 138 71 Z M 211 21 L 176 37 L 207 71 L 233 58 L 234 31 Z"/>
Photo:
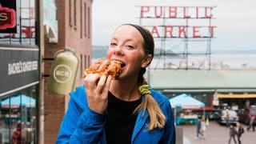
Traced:
<path fill-rule="evenodd" d="M 0 33 L 16 33 L 16 0 L 0 1 Z"/>

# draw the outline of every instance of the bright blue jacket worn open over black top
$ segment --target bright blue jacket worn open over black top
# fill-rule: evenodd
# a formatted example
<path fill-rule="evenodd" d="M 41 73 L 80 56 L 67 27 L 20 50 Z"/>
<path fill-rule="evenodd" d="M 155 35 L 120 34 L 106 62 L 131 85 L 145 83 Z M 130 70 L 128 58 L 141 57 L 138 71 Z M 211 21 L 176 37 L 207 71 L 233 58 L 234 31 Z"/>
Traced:
<path fill-rule="evenodd" d="M 166 116 L 164 129 L 147 130 L 150 122 L 148 112 L 142 117 L 139 112 L 131 143 L 133 144 L 156 144 L 156 143 L 175 143 L 174 116 L 168 98 L 151 90 L 152 96 L 158 102 L 163 114 Z M 77 87 L 70 93 L 70 102 L 66 115 L 62 120 L 56 143 L 106 143 L 105 135 L 105 116 L 90 110 L 87 106 L 85 87 Z"/>

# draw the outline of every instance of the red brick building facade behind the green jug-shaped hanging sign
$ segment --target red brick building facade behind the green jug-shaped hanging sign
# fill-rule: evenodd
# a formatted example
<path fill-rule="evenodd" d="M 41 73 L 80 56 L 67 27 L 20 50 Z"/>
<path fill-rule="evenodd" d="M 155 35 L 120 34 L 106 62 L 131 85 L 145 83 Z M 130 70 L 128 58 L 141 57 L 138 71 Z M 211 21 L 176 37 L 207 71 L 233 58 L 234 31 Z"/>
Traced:
<path fill-rule="evenodd" d="M 92 0 L 55 0 L 55 2 L 58 18 L 58 43 L 49 43 L 45 37 L 44 58 L 54 58 L 54 53 L 65 47 L 73 48 L 78 58 L 81 59 L 75 82 L 75 86 L 79 86 L 83 84 L 82 70 L 90 64 L 91 58 Z M 50 74 L 52 62 L 51 60 L 43 61 L 45 74 Z M 44 77 L 44 142 L 54 143 L 66 112 L 69 96 L 49 94 L 46 90 L 48 81 L 49 77 Z"/>

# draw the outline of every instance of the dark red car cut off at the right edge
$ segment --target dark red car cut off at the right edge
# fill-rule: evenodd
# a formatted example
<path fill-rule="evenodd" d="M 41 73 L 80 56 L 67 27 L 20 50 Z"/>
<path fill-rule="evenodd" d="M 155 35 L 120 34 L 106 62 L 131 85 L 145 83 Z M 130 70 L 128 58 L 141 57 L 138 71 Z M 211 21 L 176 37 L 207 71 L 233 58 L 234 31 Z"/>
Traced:
<path fill-rule="evenodd" d="M 256 106 L 250 106 L 250 108 L 242 109 L 239 112 L 239 121 L 246 125 L 250 122 L 250 114 L 254 115 L 254 125 L 256 124 Z"/>

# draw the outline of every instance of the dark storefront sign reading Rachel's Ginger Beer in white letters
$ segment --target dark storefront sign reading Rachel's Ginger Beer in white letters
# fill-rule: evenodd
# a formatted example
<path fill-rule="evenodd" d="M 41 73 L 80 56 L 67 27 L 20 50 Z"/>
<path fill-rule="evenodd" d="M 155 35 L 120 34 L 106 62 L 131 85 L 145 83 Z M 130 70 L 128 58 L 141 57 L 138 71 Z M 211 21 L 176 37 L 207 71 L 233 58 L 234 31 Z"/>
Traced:
<path fill-rule="evenodd" d="M 0 97 L 39 81 L 38 52 L 0 47 Z"/>

